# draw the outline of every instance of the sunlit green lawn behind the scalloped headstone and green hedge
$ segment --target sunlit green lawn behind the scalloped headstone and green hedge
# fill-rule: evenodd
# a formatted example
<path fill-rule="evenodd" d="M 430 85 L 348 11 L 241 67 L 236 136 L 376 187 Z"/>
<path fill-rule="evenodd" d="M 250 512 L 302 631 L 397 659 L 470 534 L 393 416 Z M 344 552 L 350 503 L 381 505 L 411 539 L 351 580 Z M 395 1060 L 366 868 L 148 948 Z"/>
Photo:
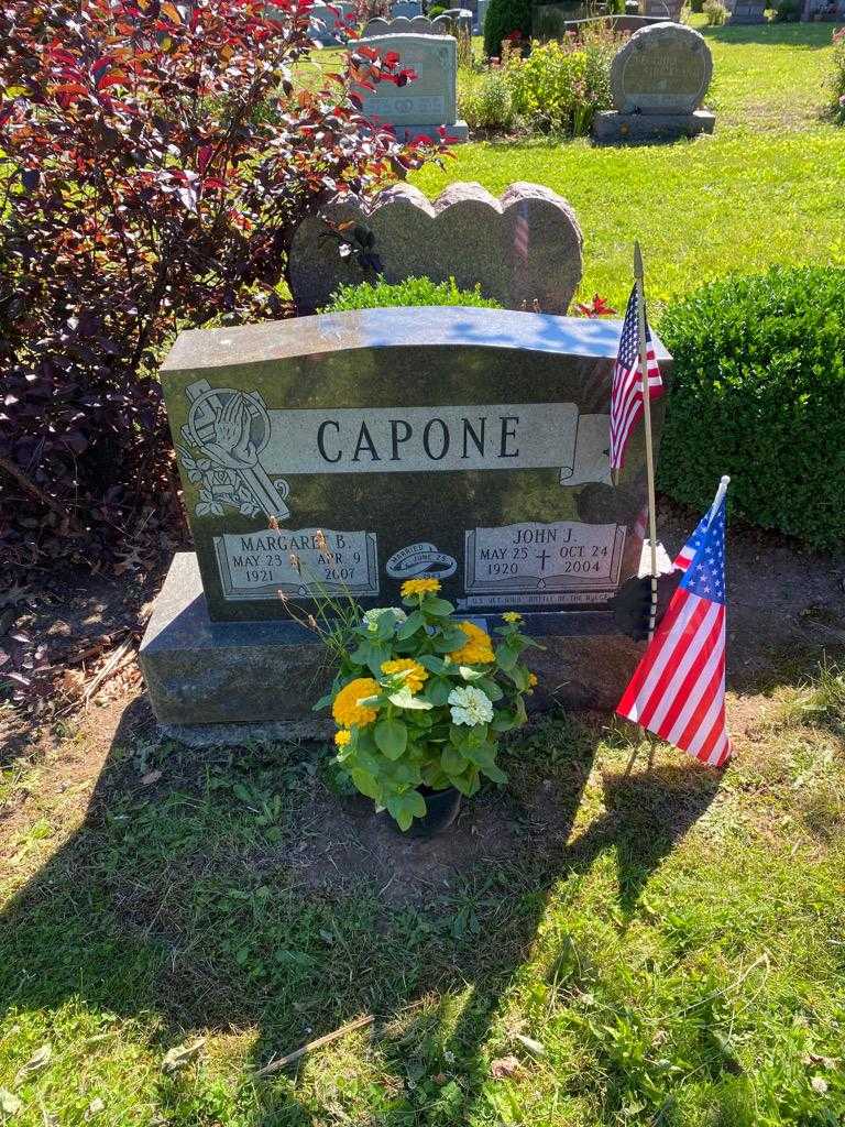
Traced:
<path fill-rule="evenodd" d="M 712 137 L 639 148 L 531 141 L 465 144 L 413 183 L 434 196 L 452 180 L 498 195 L 534 180 L 573 205 L 584 230 L 581 294 L 615 304 L 630 289 L 640 239 L 652 302 L 728 270 L 845 263 L 845 131 L 829 103 L 829 24 L 706 29 L 715 78 Z"/>

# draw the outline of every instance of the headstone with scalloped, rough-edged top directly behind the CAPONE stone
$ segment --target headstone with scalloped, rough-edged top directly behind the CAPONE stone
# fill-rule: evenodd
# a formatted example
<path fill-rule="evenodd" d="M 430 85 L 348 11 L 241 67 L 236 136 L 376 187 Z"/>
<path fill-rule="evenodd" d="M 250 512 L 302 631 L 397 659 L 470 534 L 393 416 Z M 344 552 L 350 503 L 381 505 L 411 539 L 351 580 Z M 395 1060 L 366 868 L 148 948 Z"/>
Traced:
<path fill-rule="evenodd" d="M 542 312 L 566 313 L 581 279 L 578 220 L 550 188 L 519 181 L 497 199 L 480 184 L 457 183 L 430 202 L 419 188 L 398 184 L 367 204 L 341 197 L 294 232 L 288 284 L 302 312 L 326 305 L 341 283 L 364 277 L 327 238 L 326 220 L 371 231 L 388 282 L 454 277 L 462 289 L 478 283 L 506 309 L 532 309 L 536 301 Z"/>

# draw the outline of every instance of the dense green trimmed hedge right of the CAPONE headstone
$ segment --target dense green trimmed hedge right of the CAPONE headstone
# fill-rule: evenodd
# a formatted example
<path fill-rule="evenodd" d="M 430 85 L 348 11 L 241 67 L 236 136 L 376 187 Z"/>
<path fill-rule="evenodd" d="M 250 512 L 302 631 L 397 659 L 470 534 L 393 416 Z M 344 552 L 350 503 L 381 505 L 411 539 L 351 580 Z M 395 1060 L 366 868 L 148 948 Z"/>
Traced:
<path fill-rule="evenodd" d="M 721 278 L 669 307 L 660 336 L 661 488 L 703 509 L 730 473 L 744 520 L 845 549 L 845 269 Z"/>

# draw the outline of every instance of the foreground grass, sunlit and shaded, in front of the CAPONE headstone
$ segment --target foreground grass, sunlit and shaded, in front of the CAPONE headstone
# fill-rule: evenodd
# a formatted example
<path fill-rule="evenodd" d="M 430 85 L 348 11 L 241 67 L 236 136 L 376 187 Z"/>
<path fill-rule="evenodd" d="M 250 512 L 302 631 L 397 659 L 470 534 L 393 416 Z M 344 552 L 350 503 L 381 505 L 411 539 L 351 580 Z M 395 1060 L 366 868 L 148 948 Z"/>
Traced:
<path fill-rule="evenodd" d="M 840 1122 L 845 677 L 797 660 L 731 693 L 721 777 L 552 713 L 514 740 L 510 788 L 421 846 L 361 836 L 324 747 L 180 751 L 141 700 L 21 751 L 0 1119 Z"/>

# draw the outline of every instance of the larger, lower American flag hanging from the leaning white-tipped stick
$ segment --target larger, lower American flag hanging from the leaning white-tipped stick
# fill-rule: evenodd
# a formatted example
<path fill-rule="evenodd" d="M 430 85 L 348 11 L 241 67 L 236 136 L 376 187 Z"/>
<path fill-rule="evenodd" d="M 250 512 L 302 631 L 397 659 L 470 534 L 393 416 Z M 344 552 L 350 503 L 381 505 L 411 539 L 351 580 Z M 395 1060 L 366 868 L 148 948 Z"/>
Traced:
<path fill-rule="evenodd" d="M 695 530 L 684 578 L 616 711 L 661 739 L 721 766 L 724 722 L 724 494 Z"/>

